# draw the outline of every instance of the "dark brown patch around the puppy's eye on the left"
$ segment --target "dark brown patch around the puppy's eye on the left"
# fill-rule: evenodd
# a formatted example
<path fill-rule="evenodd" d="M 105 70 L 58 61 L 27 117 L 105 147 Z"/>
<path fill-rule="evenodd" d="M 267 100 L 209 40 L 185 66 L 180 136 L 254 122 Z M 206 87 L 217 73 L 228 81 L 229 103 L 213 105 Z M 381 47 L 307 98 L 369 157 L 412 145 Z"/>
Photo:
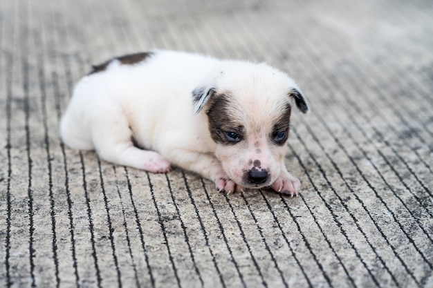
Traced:
<path fill-rule="evenodd" d="M 243 140 L 245 128 L 234 119 L 230 113 L 232 99 L 229 93 L 215 93 L 210 100 L 210 106 L 207 111 L 208 125 L 210 136 L 215 143 L 234 145 Z M 239 141 L 232 142 L 228 140 L 225 133 L 234 132 L 239 135 Z"/>

